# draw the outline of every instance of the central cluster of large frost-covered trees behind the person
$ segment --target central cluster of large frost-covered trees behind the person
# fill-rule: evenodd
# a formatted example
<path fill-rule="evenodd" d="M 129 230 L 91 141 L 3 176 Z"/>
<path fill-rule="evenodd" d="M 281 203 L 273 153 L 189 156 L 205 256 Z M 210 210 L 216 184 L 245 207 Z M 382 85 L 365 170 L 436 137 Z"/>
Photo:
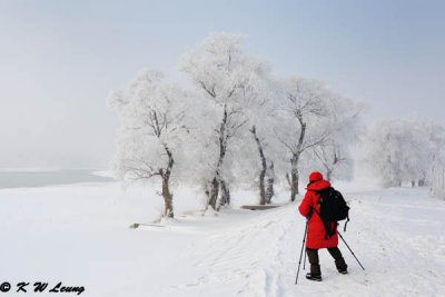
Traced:
<path fill-rule="evenodd" d="M 279 177 L 295 200 L 308 167 L 329 179 L 352 176 L 362 106 L 319 81 L 277 76 L 243 39 L 212 33 L 185 52 L 186 86 L 146 70 L 109 96 L 120 118 L 115 172 L 158 181 L 166 217 L 174 217 L 171 182 L 201 186 L 218 211 L 240 185 L 254 186 L 264 205 Z"/>

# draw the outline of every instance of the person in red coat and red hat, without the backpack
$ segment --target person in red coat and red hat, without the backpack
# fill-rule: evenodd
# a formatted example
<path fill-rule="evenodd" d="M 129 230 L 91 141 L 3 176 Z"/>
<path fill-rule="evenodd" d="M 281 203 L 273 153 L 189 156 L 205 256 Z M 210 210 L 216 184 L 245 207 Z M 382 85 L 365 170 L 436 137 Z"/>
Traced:
<path fill-rule="evenodd" d="M 318 260 L 318 249 L 320 248 L 327 248 L 330 256 L 335 259 L 338 273 L 347 274 L 347 265 L 337 247 L 338 234 L 336 231 L 333 236 L 328 237 L 319 216 L 319 191 L 329 187 L 330 182 L 324 180 L 320 172 L 312 172 L 305 198 L 298 207 L 299 212 L 308 218 L 306 253 L 310 263 L 310 273 L 306 275 L 306 278 L 310 280 L 322 280 L 322 270 Z"/>

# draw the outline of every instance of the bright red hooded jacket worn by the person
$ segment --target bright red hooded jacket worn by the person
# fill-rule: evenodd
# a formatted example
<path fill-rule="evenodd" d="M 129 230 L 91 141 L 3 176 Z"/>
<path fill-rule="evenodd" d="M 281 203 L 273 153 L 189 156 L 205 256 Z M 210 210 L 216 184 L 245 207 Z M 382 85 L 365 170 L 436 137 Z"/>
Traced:
<path fill-rule="evenodd" d="M 298 207 L 299 212 L 307 217 L 310 215 L 308 227 L 307 227 L 307 240 L 306 247 L 310 249 L 319 249 L 319 248 L 330 248 L 336 247 L 338 245 L 338 235 L 337 231 L 334 236 L 326 238 L 325 227 L 323 226 L 322 218 L 319 217 L 319 205 L 318 198 L 320 191 L 323 189 L 329 188 L 330 182 L 327 180 L 317 180 L 308 185 L 305 198 Z M 318 214 L 316 211 L 318 211 Z M 333 222 L 335 224 L 335 222 Z"/>

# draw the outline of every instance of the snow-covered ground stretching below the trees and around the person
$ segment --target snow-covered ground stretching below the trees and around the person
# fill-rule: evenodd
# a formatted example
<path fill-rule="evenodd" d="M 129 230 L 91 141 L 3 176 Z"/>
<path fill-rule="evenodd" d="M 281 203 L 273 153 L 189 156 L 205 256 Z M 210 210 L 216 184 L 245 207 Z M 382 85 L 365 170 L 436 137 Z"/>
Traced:
<path fill-rule="evenodd" d="M 197 211 L 194 190 L 178 189 L 175 221 L 130 229 L 162 211 L 152 190 L 123 192 L 115 182 L 1 189 L 0 283 L 11 294 L 20 281 L 31 283 L 28 291 L 36 281 L 62 281 L 93 297 L 445 296 L 445 201 L 423 188 L 338 188 L 352 207 L 344 238 L 366 270 L 340 242 L 349 274 L 339 275 L 322 250 L 324 281 L 306 280 L 301 265 L 297 286 L 298 201 L 211 217 Z M 254 195 L 234 192 L 235 206 Z"/>

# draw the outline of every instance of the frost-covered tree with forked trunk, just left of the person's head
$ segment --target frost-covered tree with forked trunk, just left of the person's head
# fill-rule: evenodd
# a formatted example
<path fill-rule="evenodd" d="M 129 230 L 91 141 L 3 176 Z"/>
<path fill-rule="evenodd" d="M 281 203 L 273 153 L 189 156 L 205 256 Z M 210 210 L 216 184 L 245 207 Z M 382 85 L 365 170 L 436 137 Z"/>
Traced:
<path fill-rule="evenodd" d="M 275 132 L 290 160 L 290 175 L 286 177 L 290 186 L 290 199 L 294 201 L 298 194 L 303 152 L 322 145 L 329 135 L 325 123 L 328 110 L 324 105 L 328 92 L 323 83 L 299 77 L 286 79 L 278 86 L 280 103 L 276 116 L 281 125 Z"/>

